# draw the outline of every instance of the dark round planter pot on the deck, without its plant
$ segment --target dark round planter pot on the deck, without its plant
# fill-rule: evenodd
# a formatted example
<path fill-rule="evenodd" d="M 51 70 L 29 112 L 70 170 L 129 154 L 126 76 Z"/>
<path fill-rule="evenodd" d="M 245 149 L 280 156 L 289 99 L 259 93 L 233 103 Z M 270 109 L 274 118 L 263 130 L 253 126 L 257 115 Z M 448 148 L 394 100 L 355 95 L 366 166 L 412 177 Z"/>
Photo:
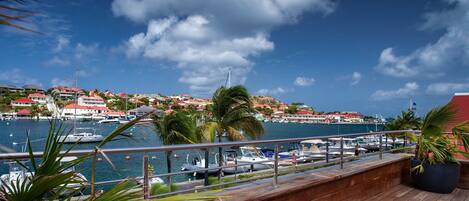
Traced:
<path fill-rule="evenodd" d="M 421 161 L 411 159 L 411 167 L 420 165 Z M 423 173 L 412 171 L 414 185 L 422 190 L 435 193 L 451 193 L 459 181 L 461 165 L 457 163 L 434 164 L 423 163 Z"/>

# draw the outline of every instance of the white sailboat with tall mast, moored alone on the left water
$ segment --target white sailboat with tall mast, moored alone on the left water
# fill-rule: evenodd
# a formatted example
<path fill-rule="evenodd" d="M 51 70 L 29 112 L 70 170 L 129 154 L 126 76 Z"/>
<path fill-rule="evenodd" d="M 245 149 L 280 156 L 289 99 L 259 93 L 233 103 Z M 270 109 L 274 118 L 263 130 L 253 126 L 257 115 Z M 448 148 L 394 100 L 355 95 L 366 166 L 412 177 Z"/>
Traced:
<path fill-rule="evenodd" d="M 75 73 L 75 89 L 78 88 L 78 79 Z M 73 132 L 69 135 L 60 136 L 60 140 L 64 143 L 90 143 L 101 142 L 104 137 L 95 133 L 92 128 L 77 128 L 77 96 L 78 90 L 75 91 L 75 112 L 73 115 Z"/>

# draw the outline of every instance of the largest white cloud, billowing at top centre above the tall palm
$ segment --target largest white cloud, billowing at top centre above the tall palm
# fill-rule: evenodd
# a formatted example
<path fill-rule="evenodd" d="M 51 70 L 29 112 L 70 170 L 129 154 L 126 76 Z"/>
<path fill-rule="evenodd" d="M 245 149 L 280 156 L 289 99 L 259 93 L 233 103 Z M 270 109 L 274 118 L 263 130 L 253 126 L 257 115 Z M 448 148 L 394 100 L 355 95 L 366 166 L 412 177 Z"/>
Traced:
<path fill-rule="evenodd" d="M 115 0 L 112 11 L 146 32 L 125 43 L 129 57 L 168 60 L 182 70 L 179 81 L 195 93 L 207 93 L 223 83 L 242 84 L 253 67 L 251 58 L 274 49 L 273 28 L 297 22 L 306 12 L 329 14 L 330 0 L 152 1 Z"/>

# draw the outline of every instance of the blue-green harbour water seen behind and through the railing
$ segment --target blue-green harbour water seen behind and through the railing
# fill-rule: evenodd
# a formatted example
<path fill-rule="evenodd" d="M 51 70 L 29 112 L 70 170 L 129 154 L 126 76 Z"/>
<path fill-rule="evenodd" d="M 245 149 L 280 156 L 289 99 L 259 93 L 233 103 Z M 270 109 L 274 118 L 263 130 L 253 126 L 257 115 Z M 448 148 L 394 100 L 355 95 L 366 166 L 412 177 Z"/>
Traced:
<path fill-rule="evenodd" d="M 77 122 L 78 127 L 94 127 L 97 133 L 107 135 L 117 124 L 96 124 L 94 122 Z M 64 122 L 64 126 L 68 129 L 71 128 L 72 122 Z M 319 135 L 333 135 L 345 133 L 358 133 L 369 132 L 375 130 L 375 125 L 363 124 L 342 124 L 342 125 L 327 125 L 327 124 L 282 124 L 282 123 L 264 123 L 265 134 L 261 139 L 282 139 L 293 137 L 310 137 Z M 16 120 L 16 121 L 0 121 L 0 144 L 9 147 L 16 151 L 21 151 L 24 147 L 26 140 L 26 131 L 29 129 L 32 146 L 34 151 L 42 151 L 45 143 L 49 128 L 48 121 L 30 121 L 30 120 Z M 381 128 L 381 127 L 380 127 Z M 378 129 L 380 129 L 378 128 Z M 159 146 L 161 142 L 157 139 L 156 134 L 151 126 L 135 126 L 129 130 L 132 132 L 132 138 L 119 138 L 112 141 L 104 148 L 117 148 L 117 147 L 145 147 L 145 146 Z M 76 149 L 91 149 L 95 144 L 79 144 Z M 185 163 L 186 155 L 188 153 L 196 153 L 196 151 L 178 151 L 176 157 L 172 160 L 173 171 L 179 171 L 183 163 Z M 216 150 L 212 150 L 212 153 Z M 203 153 L 200 153 L 203 155 Z M 163 153 L 149 153 L 151 156 L 150 162 L 154 167 L 155 173 L 166 172 L 166 159 Z M 142 175 L 142 154 L 131 154 L 130 159 L 126 160 L 124 154 L 108 155 L 118 171 L 114 171 L 112 167 L 105 162 L 105 160 L 97 162 L 97 181 L 112 180 L 125 177 L 134 177 Z M 213 158 L 213 157 L 212 157 Z M 83 173 L 87 178 L 91 175 L 91 162 L 86 161 L 84 164 L 77 167 L 77 170 Z M 0 164 L 0 173 L 5 174 L 8 172 L 7 165 Z M 189 175 L 179 175 L 175 177 L 177 181 L 185 181 L 191 178 Z"/>

